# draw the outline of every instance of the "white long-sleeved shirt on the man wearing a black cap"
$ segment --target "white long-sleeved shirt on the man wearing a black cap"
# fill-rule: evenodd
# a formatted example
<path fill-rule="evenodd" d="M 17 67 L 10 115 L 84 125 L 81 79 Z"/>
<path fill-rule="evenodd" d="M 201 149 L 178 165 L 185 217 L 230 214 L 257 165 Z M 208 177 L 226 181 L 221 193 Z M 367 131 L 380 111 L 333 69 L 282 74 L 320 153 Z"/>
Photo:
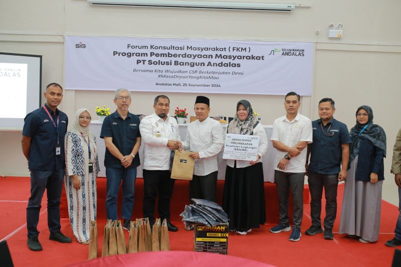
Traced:
<path fill-rule="evenodd" d="M 208 117 L 203 122 L 199 120 L 191 122 L 186 130 L 182 148 L 199 152 L 199 159 L 195 159 L 193 174 L 204 176 L 217 171 L 217 156 L 223 144 L 223 127 L 218 121 Z"/>

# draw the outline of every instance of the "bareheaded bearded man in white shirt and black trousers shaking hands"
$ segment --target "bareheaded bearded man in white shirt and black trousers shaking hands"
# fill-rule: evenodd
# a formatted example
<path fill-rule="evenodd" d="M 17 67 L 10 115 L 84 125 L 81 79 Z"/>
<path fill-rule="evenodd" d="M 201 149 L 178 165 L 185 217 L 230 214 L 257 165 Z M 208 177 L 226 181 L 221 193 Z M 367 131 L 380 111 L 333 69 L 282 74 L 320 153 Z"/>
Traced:
<path fill-rule="evenodd" d="M 170 199 L 174 179 L 170 178 L 171 149 L 181 146 L 177 121 L 168 116 L 170 100 L 164 95 L 154 99 L 154 113 L 142 119 L 139 130 L 144 141 L 143 156 L 143 217 L 154 223 L 154 205 L 158 193 L 160 219 L 167 219 L 169 231 L 178 231 L 170 222 Z"/>

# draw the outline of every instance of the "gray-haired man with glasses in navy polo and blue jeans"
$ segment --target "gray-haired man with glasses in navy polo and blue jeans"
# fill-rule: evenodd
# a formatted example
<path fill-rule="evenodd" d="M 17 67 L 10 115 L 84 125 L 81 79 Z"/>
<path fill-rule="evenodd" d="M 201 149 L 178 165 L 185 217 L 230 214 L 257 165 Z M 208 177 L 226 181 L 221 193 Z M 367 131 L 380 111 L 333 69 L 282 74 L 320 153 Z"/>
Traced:
<path fill-rule="evenodd" d="M 121 215 L 123 228 L 129 231 L 134 208 L 134 189 L 136 167 L 140 165 L 138 150 L 141 145 L 139 117 L 129 113 L 131 93 L 118 89 L 114 93 L 117 110 L 107 116 L 102 125 L 100 137 L 104 138 L 106 153 L 106 215 L 107 219 L 117 220 L 117 196 L 122 180 Z"/>

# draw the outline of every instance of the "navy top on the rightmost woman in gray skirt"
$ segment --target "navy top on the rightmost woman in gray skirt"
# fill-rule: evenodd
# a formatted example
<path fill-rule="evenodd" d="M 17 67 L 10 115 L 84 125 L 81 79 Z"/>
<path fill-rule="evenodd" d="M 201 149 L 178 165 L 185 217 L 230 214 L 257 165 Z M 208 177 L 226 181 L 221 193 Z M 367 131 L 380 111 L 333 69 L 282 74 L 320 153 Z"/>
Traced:
<path fill-rule="evenodd" d="M 370 182 L 370 173 L 377 173 L 377 180 L 384 180 L 384 150 L 362 138 L 359 144 L 358 163 L 356 165 L 355 180 Z"/>

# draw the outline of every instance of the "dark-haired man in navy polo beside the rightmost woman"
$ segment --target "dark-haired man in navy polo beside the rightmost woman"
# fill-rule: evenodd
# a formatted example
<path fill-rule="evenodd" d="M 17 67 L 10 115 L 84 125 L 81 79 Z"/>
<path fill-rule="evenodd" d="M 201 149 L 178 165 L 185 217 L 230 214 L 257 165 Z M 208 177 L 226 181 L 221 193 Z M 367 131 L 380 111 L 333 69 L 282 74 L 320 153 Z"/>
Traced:
<path fill-rule="evenodd" d="M 338 181 L 347 177 L 349 144 L 351 138 L 347 126 L 333 118 L 334 101 L 323 98 L 319 101 L 319 117 L 312 122 L 313 143 L 308 144 L 306 157 L 306 175 L 312 201 L 310 215 L 312 226 L 305 231 L 307 235 L 323 232 L 320 212 L 322 193 L 326 197 L 326 216 L 324 218 L 323 238 L 333 239 L 333 224 L 337 214 Z M 308 159 L 310 162 L 308 165 Z"/>

